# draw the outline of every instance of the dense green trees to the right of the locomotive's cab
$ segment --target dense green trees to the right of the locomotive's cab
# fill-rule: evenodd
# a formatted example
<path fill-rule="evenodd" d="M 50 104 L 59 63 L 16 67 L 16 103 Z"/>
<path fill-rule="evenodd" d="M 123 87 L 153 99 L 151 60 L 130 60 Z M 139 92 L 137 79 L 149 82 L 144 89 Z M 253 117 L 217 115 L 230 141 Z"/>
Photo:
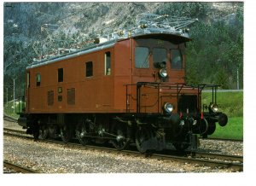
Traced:
<path fill-rule="evenodd" d="M 199 22 L 191 28 L 193 41 L 187 50 L 189 84 L 220 84 L 223 89 L 236 89 L 238 71 L 242 88 L 243 26 L 241 16 L 234 16 L 234 25 L 218 20 L 211 25 Z"/>

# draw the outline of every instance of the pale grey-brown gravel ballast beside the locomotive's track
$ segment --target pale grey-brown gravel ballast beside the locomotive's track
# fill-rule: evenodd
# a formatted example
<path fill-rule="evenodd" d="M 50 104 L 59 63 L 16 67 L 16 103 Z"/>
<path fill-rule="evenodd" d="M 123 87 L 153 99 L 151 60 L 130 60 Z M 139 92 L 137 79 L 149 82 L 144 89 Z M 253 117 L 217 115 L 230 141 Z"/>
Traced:
<path fill-rule="evenodd" d="M 5 123 L 5 121 L 4 121 Z M 5 127 L 8 125 L 5 123 Z M 19 126 L 18 126 L 19 127 Z M 230 143 L 230 142 L 229 142 Z M 201 140 L 200 150 L 242 155 L 242 142 Z M 233 150 L 233 151 L 232 151 Z M 3 159 L 45 173 L 171 173 L 230 172 L 234 170 L 171 160 L 155 160 L 101 150 L 73 148 L 20 137 L 3 137 Z"/>

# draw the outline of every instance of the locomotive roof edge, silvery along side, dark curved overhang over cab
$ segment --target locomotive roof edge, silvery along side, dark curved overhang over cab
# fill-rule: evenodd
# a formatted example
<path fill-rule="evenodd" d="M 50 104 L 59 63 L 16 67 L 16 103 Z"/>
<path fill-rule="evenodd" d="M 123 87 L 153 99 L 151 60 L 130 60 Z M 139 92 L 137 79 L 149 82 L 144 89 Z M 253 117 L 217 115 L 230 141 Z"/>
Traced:
<path fill-rule="evenodd" d="M 191 38 L 186 38 L 181 35 L 171 34 L 171 33 L 148 33 L 148 34 L 132 36 L 130 38 L 135 38 L 135 39 L 155 38 L 155 39 L 162 39 L 162 40 L 170 41 L 173 44 L 182 44 L 185 42 L 189 42 L 191 40 Z M 126 39 L 129 39 L 129 38 L 117 38 L 117 39 L 113 39 L 113 40 L 110 40 L 110 41 L 102 43 L 102 44 L 96 44 L 89 48 L 79 49 L 77 51 L 68 53 L 66 55 L 56 55 L 56 56 L 53 56 L 53 57 L 50 57 L 47 59 L 43 59 L 40 61 L 33 61 L 32 64 L 30 64 L 28 67 L 26 67 L 26 69 L 44 66 L 49 63 L 56 62 L 56 61 L 71 59 L 71 58 L 79 56 L 79 55 L 89 54 L 90 52 L 95 52 L 95 51 L 102 50 L 102 49 L 108 49 L 108 48 L 113 47 L 113 45 L 116 44 L 117 42 L 123 41 Z"/>

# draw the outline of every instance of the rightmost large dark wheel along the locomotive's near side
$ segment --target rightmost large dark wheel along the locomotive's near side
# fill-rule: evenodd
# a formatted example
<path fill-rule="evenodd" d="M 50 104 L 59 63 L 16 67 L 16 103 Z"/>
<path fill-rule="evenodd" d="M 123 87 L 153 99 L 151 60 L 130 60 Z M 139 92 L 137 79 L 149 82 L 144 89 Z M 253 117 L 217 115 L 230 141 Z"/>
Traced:
<path fill-rule="evenodd" d="M 149 129 L 145 127 L 138 129 L 136 132 L 136 139 L 135 139 L 137 150 L 141 153 L 145 153 L 148 149 L 146 142 L 151 138 L 152 138 L 152 132 Z"/>

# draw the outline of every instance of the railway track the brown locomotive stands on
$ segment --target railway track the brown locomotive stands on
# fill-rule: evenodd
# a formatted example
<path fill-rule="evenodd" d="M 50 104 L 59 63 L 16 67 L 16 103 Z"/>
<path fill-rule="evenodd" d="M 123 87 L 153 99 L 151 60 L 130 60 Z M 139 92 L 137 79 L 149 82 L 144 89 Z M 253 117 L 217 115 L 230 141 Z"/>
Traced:
<path fill-rule="evenodd" d="M 15 130 L 4 129 L 5 135 L 11 135 L 15 137 L 25 137 L 24 133 L 25 132 L 23 131 L 15 132 Z M 31 138 L 33 140 L 33 137 L 26 136 L 25 138 L 26 139 Z M 81 144 L 76 142 L 64 143 L 64 142 L 55 141 L 55 140 L 44 140 L 42 142 L 57 143 L 57 144 L 65 145 L 65 147 L 68 146 L 69 148 L 94 149 L 94 150 L 100 150 L 100 151 L 107 151 L 115 154 L 142 156 L 148 159 L 153 158 L 157 160 L 171 160 L 171 161 L 178 161 L 182 163 L 198 164 L 200 166 L 230 168 L 236 171 L 243 171 L 243 157 L 236 156 L 236 155 L 212 154 L 212 153 L 201 153 L 201 152 L 185 152 L 184 154 L 178 154 L 178 155 L 172 155 L 172 152 L 171 154 L 154 154 L 154 152 L 147 153 L 147 154 L 140 154 L 139 152 L 134 150 L 118 151 L 115 148 L 106 148 L 106 147 L 90 146 L 90 145 L 82 146 Z"/>

